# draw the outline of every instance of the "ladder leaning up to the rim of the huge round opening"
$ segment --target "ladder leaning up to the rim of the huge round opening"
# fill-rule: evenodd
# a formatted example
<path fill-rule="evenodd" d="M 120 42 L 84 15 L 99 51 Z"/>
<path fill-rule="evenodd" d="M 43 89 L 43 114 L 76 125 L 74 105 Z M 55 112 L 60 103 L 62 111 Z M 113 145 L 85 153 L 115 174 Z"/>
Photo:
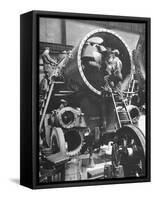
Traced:
<path fill-rule="evenodd" d="M 127 106 L 126 106 L 125 100 L 123 98 L 123 95 L 119 95 L 118 92 L 112 91 L 111 97 L 112 97 L 112 100 L 113 100 L 113 104 L 114 104 L 114 108 L 115 108 L 116 117 L 118 119 L 119 127 L 121 128 L 123 125 L 132 124 L 132 119 L 131 119 L 129 111 L 127 110 Z M 117 108 L 119 106 L 121 106 L 121 109 L 118 110 Z M 120 113 L 126 114 L 125 116 L 127 116 L 127 119 L 121 119 Z"/>

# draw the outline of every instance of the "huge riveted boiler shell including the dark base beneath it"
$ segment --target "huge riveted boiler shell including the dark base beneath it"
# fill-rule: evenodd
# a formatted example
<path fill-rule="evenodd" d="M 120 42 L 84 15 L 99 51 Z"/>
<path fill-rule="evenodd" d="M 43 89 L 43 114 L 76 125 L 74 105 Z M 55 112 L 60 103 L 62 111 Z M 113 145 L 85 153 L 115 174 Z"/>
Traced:
<path fill-rule="evenodd" d="M 131 52 L 124 40 L 111 30 L 101 28 L 88 33 L 66 57 L 61 67 L 67 89 L 76 93 L 72 102 L 85 113 L 91 130 L 102 127 L 104 123 L 106 130 L 118 128 L 112 99 L 102 99 L 108 50 L 118 52 L 117 57 L 122 63 L 121 90 L 124 91 L 132 74 Z M 103 108 L 105 103 L 106 113 Z"/>

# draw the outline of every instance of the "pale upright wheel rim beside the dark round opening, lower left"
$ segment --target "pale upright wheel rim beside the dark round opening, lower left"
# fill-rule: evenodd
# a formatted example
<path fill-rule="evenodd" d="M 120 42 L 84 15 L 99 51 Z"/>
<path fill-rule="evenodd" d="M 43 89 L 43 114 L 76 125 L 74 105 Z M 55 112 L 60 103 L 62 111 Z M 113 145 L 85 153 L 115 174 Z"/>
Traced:
<path fill-rule="evenodd" d="M 49 146 L 53 154 L 58 152 L 66 153 L 66 142 L 61 128 L 54 127 L 52 129 Z"/>

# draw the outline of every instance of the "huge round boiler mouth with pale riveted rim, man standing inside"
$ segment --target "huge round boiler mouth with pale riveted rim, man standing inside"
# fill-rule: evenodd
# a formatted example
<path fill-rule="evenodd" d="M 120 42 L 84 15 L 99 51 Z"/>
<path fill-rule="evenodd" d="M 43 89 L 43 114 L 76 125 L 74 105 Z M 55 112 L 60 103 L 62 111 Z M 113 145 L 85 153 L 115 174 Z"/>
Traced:
<path fill-rule="evenodd" d="M 78 51 L 80 75 L 88 88 L 99 95 L 105 84 L 107 49 L 119 52 L 117 57 L 122 62 L 121 72 L 124 81 L 131 73 L 131 54 L 126 43 L 115 32 L 107 29 L 90 32 L 80 43 Z"/>

